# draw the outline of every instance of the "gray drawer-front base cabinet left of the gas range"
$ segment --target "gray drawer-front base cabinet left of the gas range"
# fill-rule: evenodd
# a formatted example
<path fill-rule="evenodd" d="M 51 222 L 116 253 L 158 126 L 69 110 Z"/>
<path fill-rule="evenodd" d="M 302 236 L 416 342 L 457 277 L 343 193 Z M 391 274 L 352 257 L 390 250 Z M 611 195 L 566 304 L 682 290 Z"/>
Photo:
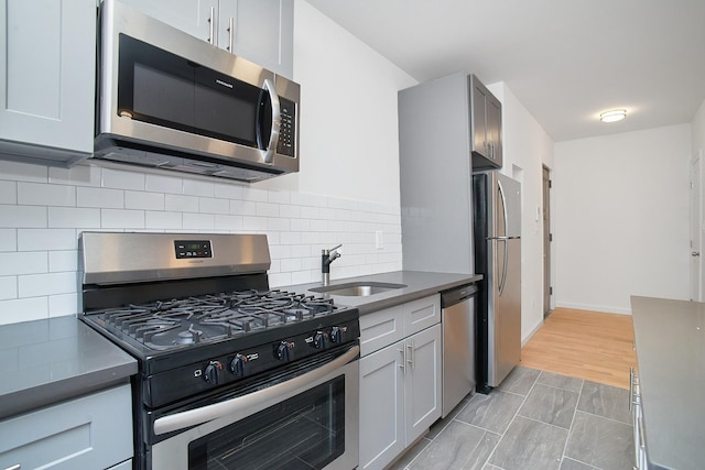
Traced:
<path fill-rule="evenodd" d="M 0 468 L 131 468 L 130 385 L 0 422 Z"/>

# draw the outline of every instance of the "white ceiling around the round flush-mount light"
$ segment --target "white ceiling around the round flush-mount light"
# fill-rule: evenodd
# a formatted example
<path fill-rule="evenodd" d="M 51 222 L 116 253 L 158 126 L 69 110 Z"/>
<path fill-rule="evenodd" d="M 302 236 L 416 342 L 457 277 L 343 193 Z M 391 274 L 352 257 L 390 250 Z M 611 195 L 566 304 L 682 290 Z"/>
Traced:
<path fill-rule="evenodd" d="M 307 1 L 419 81 L 505 81 L 556 142 L 691 122 L 705 99 L 705 0 Z"/>

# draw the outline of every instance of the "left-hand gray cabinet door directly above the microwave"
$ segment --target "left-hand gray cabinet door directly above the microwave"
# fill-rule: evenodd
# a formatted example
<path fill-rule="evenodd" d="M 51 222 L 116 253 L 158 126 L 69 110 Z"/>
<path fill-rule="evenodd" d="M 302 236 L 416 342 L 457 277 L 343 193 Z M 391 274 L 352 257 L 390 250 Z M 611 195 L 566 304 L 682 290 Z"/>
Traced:
<path fill-rule="evenodd" d="M 218 0 L 120 0 L 144 14 L 214 44 Z M 215 19 L 215 20 L 214 20 Z M 212 22 L 213 30 L 212 30 Z"/>

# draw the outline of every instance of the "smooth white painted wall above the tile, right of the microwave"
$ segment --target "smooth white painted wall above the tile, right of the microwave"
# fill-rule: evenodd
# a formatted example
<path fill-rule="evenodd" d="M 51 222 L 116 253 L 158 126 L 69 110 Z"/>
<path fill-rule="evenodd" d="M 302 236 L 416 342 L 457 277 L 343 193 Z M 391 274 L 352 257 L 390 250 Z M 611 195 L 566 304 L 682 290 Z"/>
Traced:
<path fill-rule="evenodd" d="M 400 205 L 397 91 L 413 78 L 296 0 L 301 171 L 268 187 Z"/>

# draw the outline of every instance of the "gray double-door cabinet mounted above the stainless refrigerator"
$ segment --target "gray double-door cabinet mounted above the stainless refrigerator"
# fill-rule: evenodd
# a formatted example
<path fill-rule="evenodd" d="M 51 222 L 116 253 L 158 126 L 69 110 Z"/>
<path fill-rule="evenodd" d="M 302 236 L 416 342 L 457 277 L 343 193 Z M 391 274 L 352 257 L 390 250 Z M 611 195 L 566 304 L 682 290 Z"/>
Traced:
<path fill-rule="evenodd" d="M 470 75 L 473 170 L 502 166 L 502 105 Z"/>

